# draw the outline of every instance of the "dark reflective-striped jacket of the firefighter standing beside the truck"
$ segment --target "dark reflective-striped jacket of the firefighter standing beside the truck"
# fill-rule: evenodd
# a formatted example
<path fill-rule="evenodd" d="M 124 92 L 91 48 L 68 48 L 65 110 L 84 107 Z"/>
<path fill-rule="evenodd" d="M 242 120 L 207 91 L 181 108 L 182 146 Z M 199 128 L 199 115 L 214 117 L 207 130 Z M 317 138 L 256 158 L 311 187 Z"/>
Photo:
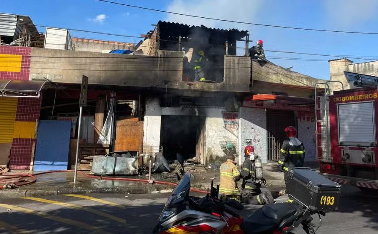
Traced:
<path fill-rule="evenodd" d="M 280 152 L 278 164 L 283 167 L 284 171 L 288 172 L 290 167 L 303 166 L 305 150 L 303 143 L 298 138 L 290 137 L 283 141 Z"/>

